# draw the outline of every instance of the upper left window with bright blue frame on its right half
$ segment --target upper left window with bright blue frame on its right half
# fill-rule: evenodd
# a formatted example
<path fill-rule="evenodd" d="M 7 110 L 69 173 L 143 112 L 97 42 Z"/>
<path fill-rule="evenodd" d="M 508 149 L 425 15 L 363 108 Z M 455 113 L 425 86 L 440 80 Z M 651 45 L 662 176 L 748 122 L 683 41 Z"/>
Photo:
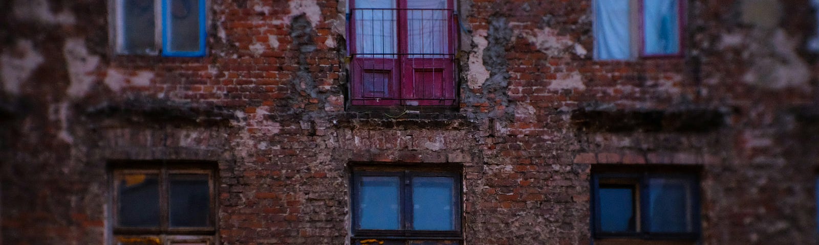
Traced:
<path fill-rule="evenodd" d="M 113 1 L 118 54 L 205 56 L 205 0 Z"/>

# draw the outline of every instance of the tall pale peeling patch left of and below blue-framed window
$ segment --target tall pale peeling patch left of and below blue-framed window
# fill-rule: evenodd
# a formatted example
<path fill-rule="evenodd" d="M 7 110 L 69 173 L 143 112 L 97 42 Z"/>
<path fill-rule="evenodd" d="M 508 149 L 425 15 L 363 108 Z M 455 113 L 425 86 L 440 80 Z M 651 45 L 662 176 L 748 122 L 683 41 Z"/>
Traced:
<path fill-rule="evenodd" d="M 93 72 L 99 65 L 100 57 L 88 54 L 88 48 L 85 47 L 82 38 L 66 39 L 63 56 L 66 58 L 71 80 L 67 91 L 68 95 L 73 97 L 85 96 L 96 79 Z"/>

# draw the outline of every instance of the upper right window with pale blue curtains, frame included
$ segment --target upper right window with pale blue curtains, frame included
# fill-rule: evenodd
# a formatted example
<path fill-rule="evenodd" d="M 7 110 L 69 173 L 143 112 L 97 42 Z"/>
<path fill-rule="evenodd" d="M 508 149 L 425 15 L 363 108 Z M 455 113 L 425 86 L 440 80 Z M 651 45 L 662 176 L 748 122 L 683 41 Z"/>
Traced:
<path fill-rule="evenodd" d="M 596 59 L 681 56 L 683 0 L 595 0 L 594 4 Z"/>

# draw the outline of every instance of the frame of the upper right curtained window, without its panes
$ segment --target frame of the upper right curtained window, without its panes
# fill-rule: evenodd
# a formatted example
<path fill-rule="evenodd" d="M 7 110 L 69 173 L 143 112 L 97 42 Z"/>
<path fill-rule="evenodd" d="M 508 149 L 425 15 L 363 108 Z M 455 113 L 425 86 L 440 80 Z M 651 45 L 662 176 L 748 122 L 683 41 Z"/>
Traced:
<path fill-rule="evenodd" d="M 594 17 L 594 23 L 592 25 L 592 33 L 595 35 L 594 41 L 594 52 L 593 56 L 596 61 L 622 61 L 622 60 L 637 60 L 637 59 L 653 59 L 653 58 L 678 58 L 685 56 L 686 52 L 686 26 L 687 23 L 687 7 L 688 3 L 686 0 L 676 0 L 677 2 L 677 32 L 679 33 L 677 37 L 677 42 L 679 43 L 679 48 L 676 53 L 668 53 L 668 54 L 648 54 L 645 51 L 645 0 L 627 0 L 629 4 L 629 16 L 628 16 L 628 36 L 629 36 L 629 56 L 625 59 L 603 59 L 600 58 L 596 51 L 600 48 L 599 40 L 597 38 L 597 29 L 598 27 L 598 18 L 597 18 L 597 1 L 604 1 L 604 0 L 593 0 L 592 2 L 592 16 Z"/>

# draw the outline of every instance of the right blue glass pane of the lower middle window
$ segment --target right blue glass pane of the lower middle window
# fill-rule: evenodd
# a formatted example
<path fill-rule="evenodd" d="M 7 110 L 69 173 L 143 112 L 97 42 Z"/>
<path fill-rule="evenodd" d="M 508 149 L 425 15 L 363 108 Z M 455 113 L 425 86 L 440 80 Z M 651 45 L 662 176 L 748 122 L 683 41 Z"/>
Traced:
<path fill-rule="evenodd" d="M 455 229 L 451 177 L 414 177 L 412 180 L 413 229 Z"/>

